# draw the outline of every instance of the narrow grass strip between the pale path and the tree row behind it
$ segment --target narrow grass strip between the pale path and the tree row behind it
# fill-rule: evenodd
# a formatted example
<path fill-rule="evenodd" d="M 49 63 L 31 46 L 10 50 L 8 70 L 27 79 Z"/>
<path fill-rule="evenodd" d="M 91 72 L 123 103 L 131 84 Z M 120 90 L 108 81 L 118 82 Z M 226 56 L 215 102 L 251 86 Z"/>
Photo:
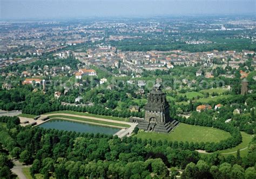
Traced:
<path fill-rule="evenodd" d="M 79 115 L 79 116 L 89 116 L 89 117 L 96 117 L 96 118 L 102 118 L 102 119 L 129 121 L 129 119 L 127 119 L 127 118 L 104 116 L 104 115 L 99 115 L 99 114 L 91 114 L 91 113 L 87 113 L 87 112 L 77 112 L 77 111 L 53 111 L 53 112 L 45 113 L 44 115 L 55 114 L 55 113 L 66 113 L 66 114 L 75 114 L 75 115 Z"/>

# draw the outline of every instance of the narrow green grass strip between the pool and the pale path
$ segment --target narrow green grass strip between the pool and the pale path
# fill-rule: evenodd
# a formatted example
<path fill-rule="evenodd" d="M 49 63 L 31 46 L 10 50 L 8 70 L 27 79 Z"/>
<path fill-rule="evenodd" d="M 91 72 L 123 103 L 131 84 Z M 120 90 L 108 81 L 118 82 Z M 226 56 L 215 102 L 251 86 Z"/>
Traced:
<path fill-rule="evenodd" d="M 106 124 L 106 125 L 119 126 L 119 127 L 126 127 L 126 128 L 131 127 L 131 126 L 128 125 L 128 124 L 112 123 L 112 122 L 103 121 L 103 120 L 94 120 L 94 119 L 87 119 L 87 118 L 79 118 L 79 117 L 74 117 L 74 116 L 53 115 L 53 116 L 49 116 L 49 118 L 66 118 L 66 119 L 75 119 L 75 120 L 87 121 L 87 122 L 97 123 L 97 124 Z"/>

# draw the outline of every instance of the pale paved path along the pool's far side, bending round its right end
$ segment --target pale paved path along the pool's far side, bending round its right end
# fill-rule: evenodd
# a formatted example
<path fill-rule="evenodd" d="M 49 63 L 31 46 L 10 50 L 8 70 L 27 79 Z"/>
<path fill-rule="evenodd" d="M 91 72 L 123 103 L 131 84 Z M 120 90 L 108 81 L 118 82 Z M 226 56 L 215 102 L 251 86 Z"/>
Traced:
<path fill-rule="evenodd" d="M 93 119 L 93 120 L 101 120 L 101 121 L 107 121 L 107 122 L 111 122 L 111 123 L 119 123 L 119 124 L 130 125 L 131 127 L 127 128 L 127 129 L 124 129 L 124 130 L 120 130 L 120 131 L 118 131 L 117 133 L 114 134 L 114 135 L 117 135 L 119 138 L 123 138 L 126 135 L 129 136 L 132 133 L 132 131 L 134 130 L 134 128 L 138 125 L 137 123 L 129 123 L 129 122 L 126 122 L 126 121 L 103 119 L 103 118 L 97 118 L 97 117 L 91 117 L 91 116 L 81 116 L 81 115 L 77 115 L 77 114 L 68 114 L 68 113 L 46 114 L 46 116 L 56 116 L 56 115 L 72 116 L 72 117 L 79 117 L 79 118 Z"/>

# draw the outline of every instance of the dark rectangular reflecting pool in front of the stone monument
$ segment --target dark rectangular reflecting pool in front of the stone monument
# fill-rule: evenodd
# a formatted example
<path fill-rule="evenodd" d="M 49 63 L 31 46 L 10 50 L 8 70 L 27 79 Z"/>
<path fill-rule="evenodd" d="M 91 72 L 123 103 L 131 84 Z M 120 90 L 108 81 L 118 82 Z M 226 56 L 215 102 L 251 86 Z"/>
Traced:
<path fill-rule="evenodd" d="M 43 128 L 55 128 L 57 130 L 76 131 L 84 133 L 103 133 L 114 134 L 117 133 L 120 128 L 114 128 L 109 126 L 100 126 L 87 123 L 79 123 L 77 121 L 63 120 L 63 119 L 51 119 L 38 127 Z"/>

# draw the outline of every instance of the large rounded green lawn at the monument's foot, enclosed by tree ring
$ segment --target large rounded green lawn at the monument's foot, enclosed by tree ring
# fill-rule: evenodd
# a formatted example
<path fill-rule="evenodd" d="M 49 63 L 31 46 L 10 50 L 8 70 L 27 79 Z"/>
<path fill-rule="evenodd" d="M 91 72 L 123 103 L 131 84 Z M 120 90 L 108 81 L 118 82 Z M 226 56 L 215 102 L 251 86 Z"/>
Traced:
<path fill-rule="evenodd" d="M 218 128 L 188 125 L 184 123 L 180 123 L 180 125 L 174 128 L 174 131 L 169 134 L 143 132 L 135 136 L 142 139 L 166 139 L 188 142 L 218 142 L 231 137 L 230 133 L 219 130 Z"/>

